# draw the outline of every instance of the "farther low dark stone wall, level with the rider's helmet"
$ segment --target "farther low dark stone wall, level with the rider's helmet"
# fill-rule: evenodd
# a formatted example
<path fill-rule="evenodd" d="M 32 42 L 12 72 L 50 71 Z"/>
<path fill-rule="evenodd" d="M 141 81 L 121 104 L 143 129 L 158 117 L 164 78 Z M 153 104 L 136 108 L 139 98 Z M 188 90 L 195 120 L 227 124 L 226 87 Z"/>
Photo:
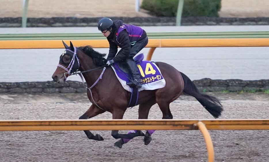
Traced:
<path fill-rule="evenodd" d="M 111 17 L 137 26 L 174 26 L 175 17 Z M 97 27 L 100 18 L 28 18 L 27 27 Z M 0 18 L 0 27 L 21 27 L 22 18 Z M 269 25 L 269 18 L 183 17 L 181 25 Z"/>

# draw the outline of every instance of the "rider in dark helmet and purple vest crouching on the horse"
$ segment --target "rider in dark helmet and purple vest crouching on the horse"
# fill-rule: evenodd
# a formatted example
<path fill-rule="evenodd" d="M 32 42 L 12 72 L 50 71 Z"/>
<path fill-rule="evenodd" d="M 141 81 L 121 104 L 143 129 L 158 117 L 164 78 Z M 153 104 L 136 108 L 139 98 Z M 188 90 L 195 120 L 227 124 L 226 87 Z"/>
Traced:
<path fill-rule="evenodd" d="M 142 79 L 133 57 L 147 45 L 147 33 L 140 27 L 123 24 L 122 20 L 112 21 L 110 18 L 99 20 L 98 30 L 107 37 L 109 42 L 107 64 L 126 62 L 133 77 L 132 86 L 141 88 Z M 121 48 L 119 52 L 118 46 Z"/>

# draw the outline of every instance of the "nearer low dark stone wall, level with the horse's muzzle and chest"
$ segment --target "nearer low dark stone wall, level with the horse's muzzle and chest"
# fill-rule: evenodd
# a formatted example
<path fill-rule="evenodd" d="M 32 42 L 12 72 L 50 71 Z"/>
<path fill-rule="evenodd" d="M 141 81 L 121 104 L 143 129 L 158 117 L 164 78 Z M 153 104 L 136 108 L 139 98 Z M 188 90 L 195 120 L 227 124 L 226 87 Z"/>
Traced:
<path fill-rule="evenodd" d="M 211 80 L 204 78 L 193 81 L 200 92 L 214 91 L 264 91 L 269 90 L 269 80 Z M 47 82 L 0 82 L 0 93 L 86 93 L 86 84 L 66 81 L 59 84 Z"/>

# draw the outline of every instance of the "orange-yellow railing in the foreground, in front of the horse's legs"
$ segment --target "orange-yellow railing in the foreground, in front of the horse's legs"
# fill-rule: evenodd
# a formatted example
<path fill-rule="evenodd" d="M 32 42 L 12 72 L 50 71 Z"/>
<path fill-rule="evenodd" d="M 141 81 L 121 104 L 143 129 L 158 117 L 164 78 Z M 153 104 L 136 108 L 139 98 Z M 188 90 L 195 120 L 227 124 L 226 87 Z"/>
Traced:
<path fill-rule="evenodd" d="M 269 129 L 269 119 L 232 120 L 0 120 L 0 131 L 56 130 L 196 130 L 206 142 L 208 161 L 214 161 L 214 150 L 208 129 Z"/>

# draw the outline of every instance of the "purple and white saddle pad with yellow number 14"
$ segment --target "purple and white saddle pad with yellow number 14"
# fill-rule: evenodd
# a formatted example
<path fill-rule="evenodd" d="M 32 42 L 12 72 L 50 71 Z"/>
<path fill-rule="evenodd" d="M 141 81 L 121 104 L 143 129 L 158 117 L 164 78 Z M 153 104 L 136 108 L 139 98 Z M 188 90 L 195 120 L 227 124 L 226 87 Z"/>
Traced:
<path fill-rule="evenodd" d="M 123 88 L 126 91 L 132 92 L 130 86 L 126 83 L 130 82 L 127 77 L 129 74 L 124 73 L 118 66 L 118 63 L 114 63 L 111 66 L 114 70 L 118 80 L 122 84 Z M 142 90 L 154 90 L 163 88 L 165 86 L 165 80 L 162 77 L 161 71 L 158 66 L 154 62 L 150 61 L 141 61 L 139 65 L 137 65 L 139 72 L 142 76 L 142 87 L 138 89 L 138 91 Z"/>

